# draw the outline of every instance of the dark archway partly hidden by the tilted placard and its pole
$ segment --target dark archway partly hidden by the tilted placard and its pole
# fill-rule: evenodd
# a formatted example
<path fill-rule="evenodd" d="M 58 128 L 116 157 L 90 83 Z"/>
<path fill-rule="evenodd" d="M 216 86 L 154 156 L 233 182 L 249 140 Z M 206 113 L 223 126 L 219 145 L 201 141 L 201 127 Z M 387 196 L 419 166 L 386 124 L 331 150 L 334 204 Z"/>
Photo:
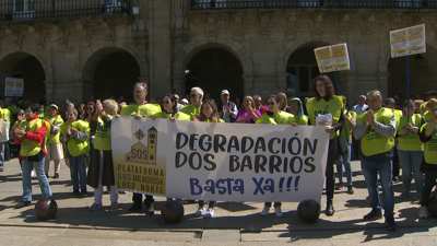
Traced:
<path fill-rule="evenodd" d="M 329 44 L 318 42 L 307 43 L 298 47 L 290 56 L 286 66 L 286 72 L 288 73 L 286 87 L 294 91 L 294 96 L 302 98 L 314 96 L 312 79 L 320 74 L 314 49 L 327 45 Z M 330 72 L 327 75 L 336 89 L 334 74 Z"/>

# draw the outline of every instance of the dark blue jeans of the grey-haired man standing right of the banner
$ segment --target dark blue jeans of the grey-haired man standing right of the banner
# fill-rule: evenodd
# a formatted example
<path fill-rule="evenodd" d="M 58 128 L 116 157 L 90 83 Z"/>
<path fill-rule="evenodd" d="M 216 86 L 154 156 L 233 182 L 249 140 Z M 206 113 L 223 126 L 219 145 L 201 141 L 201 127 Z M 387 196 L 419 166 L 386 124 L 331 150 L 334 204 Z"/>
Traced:
<path fill-rule="evenodd" d="M 386 216 L 394 214 L 393 168 L 391 160 L 376 163 L 363 159 L 362 169 L 367 184 L 370 207 L 377 210 L 383 208 Z M 379 197 L 378 172 L 382 186 L 382 207 Z"/>

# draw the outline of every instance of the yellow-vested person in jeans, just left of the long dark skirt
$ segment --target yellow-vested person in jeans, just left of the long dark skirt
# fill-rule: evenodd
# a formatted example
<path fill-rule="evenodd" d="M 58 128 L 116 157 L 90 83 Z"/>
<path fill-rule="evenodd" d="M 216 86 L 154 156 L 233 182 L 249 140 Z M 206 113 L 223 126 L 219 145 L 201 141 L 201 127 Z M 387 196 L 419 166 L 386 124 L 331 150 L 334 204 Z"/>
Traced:
<path fill-rule="evenodd" d="M 78 120 L 78 110 L 74 108 L 67 109 L 66 115 L 67 121 L 60 126 L 60 141 L 64 147 L 66 164 L 70 167 L 73 196 L 80 197 L 86 194 L 86 164 L 83 157 L 90 151 L 87 141 L 90 124 Z"/>

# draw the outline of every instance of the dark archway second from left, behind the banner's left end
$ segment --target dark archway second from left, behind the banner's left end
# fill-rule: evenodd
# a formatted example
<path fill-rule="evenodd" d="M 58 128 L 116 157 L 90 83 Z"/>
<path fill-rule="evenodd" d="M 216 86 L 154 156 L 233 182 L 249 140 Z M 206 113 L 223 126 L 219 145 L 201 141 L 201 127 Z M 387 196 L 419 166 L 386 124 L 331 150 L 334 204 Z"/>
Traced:
<path fill-rule="evenodd" d="M 104 57 L 94 72 L 94 96 L 106 99 L 120 96 L 129 104 L 133 101 L 132 86 L 140 77 L 140 67 L 135 58 L 126 51 L 118 51 Z"/>

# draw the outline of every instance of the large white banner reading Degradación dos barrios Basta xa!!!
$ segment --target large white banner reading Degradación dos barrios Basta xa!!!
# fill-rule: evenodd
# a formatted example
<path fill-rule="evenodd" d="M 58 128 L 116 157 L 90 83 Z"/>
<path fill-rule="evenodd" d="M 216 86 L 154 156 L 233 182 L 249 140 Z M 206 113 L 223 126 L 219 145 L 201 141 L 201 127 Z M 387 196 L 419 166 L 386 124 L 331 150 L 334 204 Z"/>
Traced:
<path fill-rule="evenodd" d="M 115 118 L 116 187 L 193 200 L 320 201 L 324 129 Z"/>

